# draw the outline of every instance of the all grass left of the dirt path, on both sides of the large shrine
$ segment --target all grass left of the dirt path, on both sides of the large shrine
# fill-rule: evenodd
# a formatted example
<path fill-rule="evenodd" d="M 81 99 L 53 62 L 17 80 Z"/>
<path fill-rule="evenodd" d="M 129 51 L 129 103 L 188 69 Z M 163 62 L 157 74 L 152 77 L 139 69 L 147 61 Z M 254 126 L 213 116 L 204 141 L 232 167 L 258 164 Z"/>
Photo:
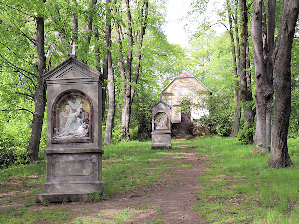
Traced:
<path fill-rule="evenodd" d="M 151 141 L 121 142 L 112 146 L 104 146 L 102 160 L 102 178 L 104 182 L 105 199 L 109 199 L 115 193 L 123 193 L 134 188 L 148 184 L 160 184 L 161 174 L 173 166 L 181 166 L 180 158 L 183 153 L 178 152 L 182 142 L 173 142 L 172 150 L 153 150 Z M 172 159 L 172 157 L 175 157 Z M 45 202 L 41 206 L 34 205 L 34 195 L 42 192 L 45 180 L 46 163 L 22 165 L 0 170 L 0 192 L 9 191 L 5 186 L 8 180 L 19 180 L 18 187 L 22 187 L 21 196 L 26 193 L 28 198 L 22 205 L 11 206 L 11 198 L 8 198 L 7 209 L 0 211 L 0 223 L 65 223 L 73 220 L 64 212 L 63 204 L 58 210 L 50 209 Z M 30 176 L 38 176 L 31 180 Z M 12 186 L 15 188 L 15 186 Z M 19 198 L 24 198 L 20 197 Z M 98 192 L 91 194 L 90 201 L 97 201 L 100 198 Z M 34 208 L 34 207 L 38 208 Z M 147 205 L 143 205 L 145 209 Z M 44 208 L 48 208 L 47 212 Z M 37 210 L 37 211 L 31 211 Z M 112 214 L 114 223 L 125 222 L 130 211 L 124 209 L 120 213 Z M 103 217 L 102 217 L 103 219 Z M 110 222 L 111 220 L 108 220 Z M 77 218 L 73 222 L 89 222 L 86 219 Z"/>

